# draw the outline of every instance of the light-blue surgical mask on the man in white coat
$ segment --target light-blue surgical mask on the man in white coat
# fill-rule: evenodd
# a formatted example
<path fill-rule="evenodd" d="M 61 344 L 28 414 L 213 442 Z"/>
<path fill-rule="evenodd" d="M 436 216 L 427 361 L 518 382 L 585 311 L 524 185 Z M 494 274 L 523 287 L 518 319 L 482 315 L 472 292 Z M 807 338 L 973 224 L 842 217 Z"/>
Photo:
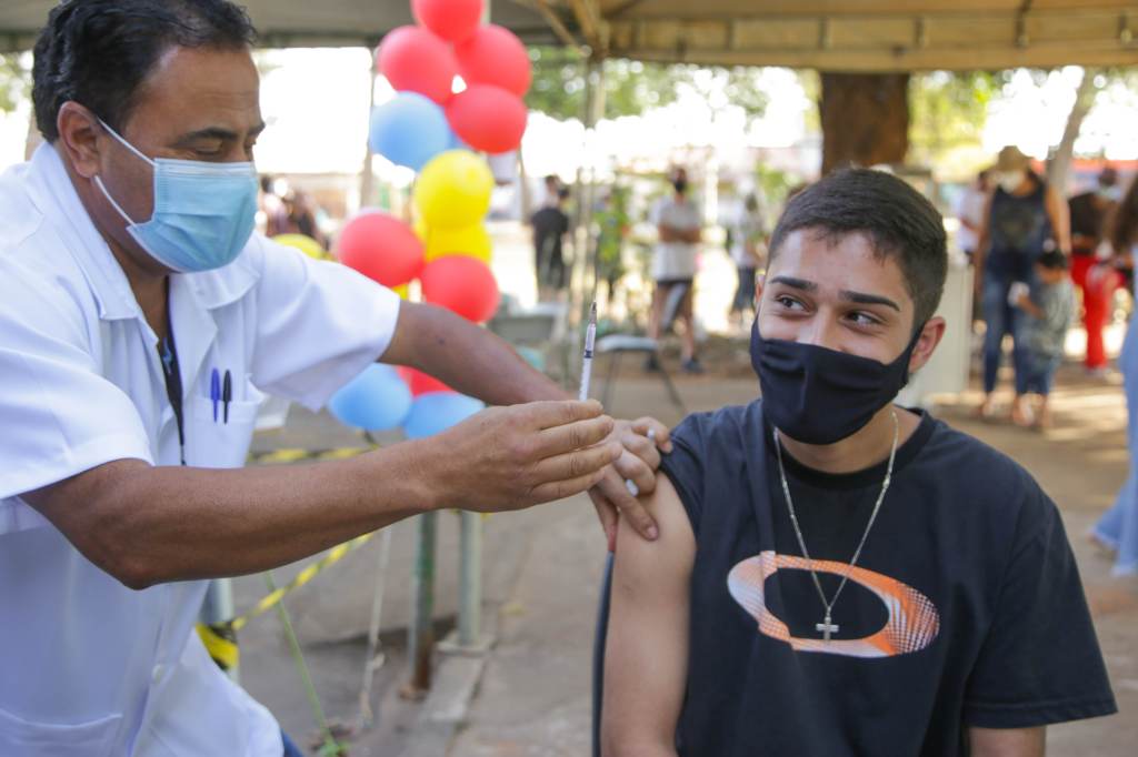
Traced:
<path fill-rule="evenodd" d="M 101 118 L 99 123 L 154 168 L 154 214 L 141 224 L 127 216 L 102 180 L 94 177 L 139 247 L 179 273 L 213 271 L 236 260 L 256 223 L 258 185 L 253 164 L 151 160 Z"/>

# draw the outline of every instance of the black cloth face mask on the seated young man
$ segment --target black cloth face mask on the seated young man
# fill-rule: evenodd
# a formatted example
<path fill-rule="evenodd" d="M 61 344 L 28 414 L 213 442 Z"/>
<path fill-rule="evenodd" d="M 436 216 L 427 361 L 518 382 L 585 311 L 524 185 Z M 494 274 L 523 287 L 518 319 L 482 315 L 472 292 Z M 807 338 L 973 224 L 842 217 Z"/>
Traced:
<path fill-rule="evenodd" d="M 860 431 L 909 382 L 921 330 L 890 364 L 817 344 L 764 339 L 751 330 L 751 365 L 762 388 L 762 411 L 776 429 L 805 444 L 833 444 Z"/>

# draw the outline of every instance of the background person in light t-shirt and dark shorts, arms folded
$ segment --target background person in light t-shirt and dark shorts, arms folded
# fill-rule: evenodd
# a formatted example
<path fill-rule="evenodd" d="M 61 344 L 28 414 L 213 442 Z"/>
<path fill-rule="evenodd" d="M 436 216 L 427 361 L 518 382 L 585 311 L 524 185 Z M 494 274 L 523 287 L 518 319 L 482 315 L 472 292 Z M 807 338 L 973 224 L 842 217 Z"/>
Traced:
<path fill-rule="evenodd" d="M 702 239 L 703 217 L 700 209 L 687 197 L 687 170 L 676 168 L 670 176 L 673 193 L 661 199 L 652 209 L 652 222 L 655 224 L 659 241 L 652 256 L 652 280 L 655 289 L 652 291 L 652 313 L 649 318 L 648 333 L 652 339 L 660 339 L 663 331 L 665 308 L 668 297 L 677 288 L 683 288 L 683 300 L 676 317 L 684 324 L 683 333 L 683 369 L 686 373 L 702 373 L 695 355 L 695 317 L 692 311 L 692 300 L 695 289 L 695 256 Z M 659 368 L 655 356 L 650 356 L 644 367 L 649 371 Z"/>

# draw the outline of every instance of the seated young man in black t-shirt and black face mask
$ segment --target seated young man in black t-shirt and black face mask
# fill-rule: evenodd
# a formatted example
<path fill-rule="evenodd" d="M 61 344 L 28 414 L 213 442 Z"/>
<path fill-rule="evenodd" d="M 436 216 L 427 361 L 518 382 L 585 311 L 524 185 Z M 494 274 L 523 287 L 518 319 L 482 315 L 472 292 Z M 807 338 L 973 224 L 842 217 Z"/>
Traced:
<path fill-rule="evenodd" d="M 693 415 L 621 527 L 605 757 L 1044 754 L 1115 710 L 1058 511 L 892 404 L 945 332 L 941 218 L 890 175 L 790 202 L 752 332 L 761 400 Z"/>

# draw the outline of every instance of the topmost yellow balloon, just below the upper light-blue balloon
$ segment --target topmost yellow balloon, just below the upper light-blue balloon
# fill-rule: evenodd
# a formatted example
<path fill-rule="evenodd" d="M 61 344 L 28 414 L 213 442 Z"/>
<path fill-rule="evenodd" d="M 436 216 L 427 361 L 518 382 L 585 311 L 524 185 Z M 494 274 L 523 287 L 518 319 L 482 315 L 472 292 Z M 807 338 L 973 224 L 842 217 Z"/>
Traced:
<path fill-rule="evenodd" d="M 435 228 L 462 228 L 490 209 L 494 175 L 486 161 L 465 150 L 450 150 L 423 166 L 415 182 L 415 207 Z"/>

